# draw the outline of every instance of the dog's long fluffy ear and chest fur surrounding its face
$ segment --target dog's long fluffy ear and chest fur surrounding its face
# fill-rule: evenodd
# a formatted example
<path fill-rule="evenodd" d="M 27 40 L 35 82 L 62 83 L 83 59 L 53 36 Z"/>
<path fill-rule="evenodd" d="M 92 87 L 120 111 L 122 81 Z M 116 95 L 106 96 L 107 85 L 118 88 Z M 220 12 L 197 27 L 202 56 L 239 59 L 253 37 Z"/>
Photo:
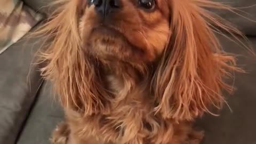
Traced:
<path fill-rule="evenodd" d="M 224 80 L 241 69 L 214 33 L 242 34 L 208 9 L 234 9 L 206 0 L 158 1 L 168 5 L 170 29 L 153 62 L 115 62 L 115 69 L 88 54 L 79 18 L 86 2 L 81 0 L 57 1 L 58 10 L 35 33 L 51 39 L 39 55 L 46 63 L 42 75 L 52 81 L 65 108 L 72 144 L 199 143 L 201 133 L 190 122 L 211 113 L 211 106 L 222 107 L 223 90 L 232 90 Z M 115 75 L 105 67 L 114 68 Z"/>

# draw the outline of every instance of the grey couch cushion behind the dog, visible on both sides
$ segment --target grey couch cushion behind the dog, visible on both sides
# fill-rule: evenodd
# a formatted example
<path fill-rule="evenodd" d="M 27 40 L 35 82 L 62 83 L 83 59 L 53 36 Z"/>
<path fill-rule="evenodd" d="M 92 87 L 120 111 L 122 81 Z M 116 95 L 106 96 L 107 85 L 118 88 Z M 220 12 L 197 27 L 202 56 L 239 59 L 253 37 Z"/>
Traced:
<path fill-rule="evenodd" d="M 223 37 L 221 39 L 223 47 L 228 52 L 243 55 L 238 58 L 238 64 L 245 65 L 248 74 L 236 75 L 237 91 L 228 100 L 233 113 L 226 106 L 221 111 L 220 117 L 206 115 L 198 119 L 198 126 L 205 130 L 202 144 L 255 144 L 256 60 L 228 39 Z M 256 50 L 256 37 L 250 38 L 250 41 Z M 18 144 L 50 143 L 51 132 L 62 118 L 63 111 L 57 103 L 53 103 L 50 87 L 43 88 Z"/>

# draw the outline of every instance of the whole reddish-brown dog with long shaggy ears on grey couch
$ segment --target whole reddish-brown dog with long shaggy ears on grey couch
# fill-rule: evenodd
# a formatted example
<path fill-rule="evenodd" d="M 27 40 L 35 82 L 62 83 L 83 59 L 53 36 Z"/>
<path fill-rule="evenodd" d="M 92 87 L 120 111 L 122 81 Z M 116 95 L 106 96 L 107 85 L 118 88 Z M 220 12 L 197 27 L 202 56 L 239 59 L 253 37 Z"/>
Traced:
<path fill-rule="evenodd" d="M 241 33 L 207 0 L 59 0 L 37 33 L 66 121 L 52 144 L 198 144 L 193 123 L 240 71 L 215 33 Z"/>

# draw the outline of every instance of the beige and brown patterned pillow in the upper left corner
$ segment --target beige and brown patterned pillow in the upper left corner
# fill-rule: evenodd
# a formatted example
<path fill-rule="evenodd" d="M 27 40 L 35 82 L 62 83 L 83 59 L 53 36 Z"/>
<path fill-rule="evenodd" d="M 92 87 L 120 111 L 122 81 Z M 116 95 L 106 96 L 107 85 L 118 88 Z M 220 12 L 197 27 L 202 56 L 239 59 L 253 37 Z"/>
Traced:
<path fill-rule="evenodd" d="M 0 54 L 42 18 L 20 0 L 0 0 Z"/>

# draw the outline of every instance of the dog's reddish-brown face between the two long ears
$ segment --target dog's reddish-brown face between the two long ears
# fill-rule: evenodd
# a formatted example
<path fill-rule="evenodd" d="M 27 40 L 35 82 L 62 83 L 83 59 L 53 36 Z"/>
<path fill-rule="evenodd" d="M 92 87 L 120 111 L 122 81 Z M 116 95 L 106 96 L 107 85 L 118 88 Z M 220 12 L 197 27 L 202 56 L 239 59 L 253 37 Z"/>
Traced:
<path fill-rule="evenodd" d="M 93 57 L 133 63 L 154 61 L 169 37 L 166 1 L 87 1 L 79 21 L 83 47 Z"/>

